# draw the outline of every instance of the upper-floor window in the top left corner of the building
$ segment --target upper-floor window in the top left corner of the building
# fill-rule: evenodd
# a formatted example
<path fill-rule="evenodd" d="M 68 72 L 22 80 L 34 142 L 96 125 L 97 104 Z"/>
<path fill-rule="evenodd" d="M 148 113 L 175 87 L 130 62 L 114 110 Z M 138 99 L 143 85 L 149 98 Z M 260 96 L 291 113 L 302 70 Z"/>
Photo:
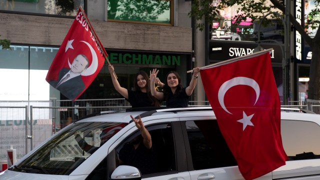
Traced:
<path fill-rule="evenodd" d="M 75 16 L 84 0 L 0 0 L 0 10 Z"/>

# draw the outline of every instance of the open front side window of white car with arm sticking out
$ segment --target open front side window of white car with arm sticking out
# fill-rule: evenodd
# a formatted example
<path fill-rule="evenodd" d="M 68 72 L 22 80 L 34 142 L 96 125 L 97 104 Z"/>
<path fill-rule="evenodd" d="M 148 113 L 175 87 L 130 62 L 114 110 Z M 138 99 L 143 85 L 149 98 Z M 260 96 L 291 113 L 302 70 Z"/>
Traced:
<path fill-rule="evenodd" d="M 135 166 L 140 170 L 142 176 L 176 170 L 171 124 L 157 124 L 147 126 L 146 129 L 151 135 L 151 149 L 138 152 L 140 150 L 136 148 L 134 152 L 132 151 L 132 143 L 134 143 L 134 139 L 140 135 L 140 131 L 137 130 L 116 148 L 116 166 Z M 133 154 L 135 155 L 133 156 Z"/>

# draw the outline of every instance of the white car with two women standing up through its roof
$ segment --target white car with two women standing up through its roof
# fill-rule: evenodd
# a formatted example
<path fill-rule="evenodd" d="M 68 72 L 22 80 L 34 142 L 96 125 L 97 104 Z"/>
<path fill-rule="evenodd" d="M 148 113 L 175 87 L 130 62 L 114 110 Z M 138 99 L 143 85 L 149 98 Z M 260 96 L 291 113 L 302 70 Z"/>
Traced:
<path fill-rule="evenodd" d="M 156 167 L 155 171 L 120 164 L 120 149 L 140 133 L 130 123 L 130 114 L 134 117 L 140 114 L 154 148 L 151 159 L 135 162 L 143 162 L 143 168 Z M 320 179 L 319 124 L 319 114 L 282 110 L 281 135 L 289 160 L 257 179 Z M 1 172 L 0 179 L 233 180 L 243 177 L 211 107 L 187 107 L 106 111 L 83 118 L 62 128 Z"/>

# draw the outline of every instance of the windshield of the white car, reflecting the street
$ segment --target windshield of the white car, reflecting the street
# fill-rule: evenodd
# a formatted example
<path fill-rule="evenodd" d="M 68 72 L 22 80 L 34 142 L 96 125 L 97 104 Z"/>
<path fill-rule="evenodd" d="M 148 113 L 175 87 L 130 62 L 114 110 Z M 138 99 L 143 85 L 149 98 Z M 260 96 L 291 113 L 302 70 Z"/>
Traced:
<path fill-rule="evenodd" d="M 73 123 L 9 170 L 68 175 L 126 124 Z"/>

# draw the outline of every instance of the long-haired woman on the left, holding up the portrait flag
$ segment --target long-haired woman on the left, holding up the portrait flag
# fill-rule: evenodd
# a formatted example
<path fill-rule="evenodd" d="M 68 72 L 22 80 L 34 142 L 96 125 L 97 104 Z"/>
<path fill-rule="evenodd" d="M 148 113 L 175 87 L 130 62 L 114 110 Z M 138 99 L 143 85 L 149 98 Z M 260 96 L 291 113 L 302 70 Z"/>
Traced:
<path fill-rule="evenodd" d="M 132 107 L 160 106 L 159 100 L 151 95 L 150 79 L 146 72 L 141 70 L 136 73 L 134 78 L 134 90 L 128 90 L 120 86 L 115 73 L 113 73 L 113 65 L 109 65 L 108 69 L 115 90 L 130 102 Z"/>

